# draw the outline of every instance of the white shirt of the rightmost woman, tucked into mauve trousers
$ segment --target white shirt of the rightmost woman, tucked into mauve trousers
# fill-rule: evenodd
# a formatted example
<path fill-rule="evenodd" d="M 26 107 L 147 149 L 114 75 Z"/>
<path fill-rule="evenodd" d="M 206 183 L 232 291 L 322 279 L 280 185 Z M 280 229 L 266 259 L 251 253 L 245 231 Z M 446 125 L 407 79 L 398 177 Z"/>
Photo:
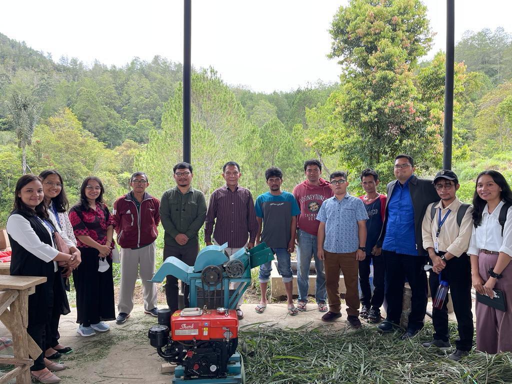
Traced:
<path fill-rule="evenodd" d="M 503 252 L 512 257 L 512 207 L 508 208 L 503 236 L 501 236 L 501 224 L 498 218 L 503 204 L 504 202 L 500 201 L 490 215 L 488 205 L 485 205 L 482 222 L 477 228 L 473 226 L 468 254 L 478 255 L 480 249 L 487 249 L 488 251 Z"/>

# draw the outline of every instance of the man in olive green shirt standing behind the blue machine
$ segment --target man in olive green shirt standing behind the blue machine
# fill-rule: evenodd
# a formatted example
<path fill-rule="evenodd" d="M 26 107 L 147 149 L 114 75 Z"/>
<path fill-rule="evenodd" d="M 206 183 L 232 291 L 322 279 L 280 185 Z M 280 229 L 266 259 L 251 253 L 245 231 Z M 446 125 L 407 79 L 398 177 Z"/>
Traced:
<path fill-rule="evenodd" d="M 194 177 L 192 166 L 178 163 L 173 168 L 177 186 L 164 192 L 160 202 L 160 220 L 165 230 L 163 260 L 174 256 L 187 265 L 194 265 L 199 252 L 198 231 L 206 219 L 204 194 L 190 186 Z M 183 296 L 188 307 L 189 288 L 185 285 Z M 165 283 L 167 306 L 178 309 L 178 279 L 168 275 Z"/>

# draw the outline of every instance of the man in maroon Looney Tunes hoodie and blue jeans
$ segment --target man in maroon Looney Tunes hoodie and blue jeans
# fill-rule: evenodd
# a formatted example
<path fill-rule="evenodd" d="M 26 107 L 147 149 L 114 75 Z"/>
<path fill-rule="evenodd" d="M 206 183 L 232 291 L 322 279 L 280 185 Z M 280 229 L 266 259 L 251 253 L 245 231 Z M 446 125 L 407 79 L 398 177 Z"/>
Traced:
<path fill-rule="evenodd" d="M 315 299 L 320 312 L 327 312 L 327 290 L 325 287 L 324 262 L 319 260 L 317 251 L 317 233 L 319 222 L 316 215 L 322 203 L 333 196 L 330 184 L 322 179 L 322 163 L 318 160 L 307 160 L 304 163 L 306 180 L 293 189 L 293 196 L 301 208 L 297 220 L 297 309 L 306 310 L 309 290 L 309 266 L 311 258 L 315 259 L 316 289 Z"/>

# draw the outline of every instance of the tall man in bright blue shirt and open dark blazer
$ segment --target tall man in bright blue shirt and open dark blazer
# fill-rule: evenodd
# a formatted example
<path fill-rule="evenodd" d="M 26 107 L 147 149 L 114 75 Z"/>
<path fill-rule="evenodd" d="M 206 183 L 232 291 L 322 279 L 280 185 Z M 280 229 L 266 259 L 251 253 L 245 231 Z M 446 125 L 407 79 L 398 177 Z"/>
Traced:
<path fill-rule="evenodd" d="M 394 174 L 397 180 L 386 186 L 386 215 L 378 246 L 386 265 L 387 317 L 378 329 L 394 332 L 402 314 L 403 284 L 411 287 L 411 313 L 402 339 L 413 337 L 423 328 L 427 303 L 427 280 L 423 266 L 428 252 L 423 248 L 421 224 L 426 207 L 439 201 L 432 180 L 414 175 L 414 160 L 409 155 L 395 158 Z"/>

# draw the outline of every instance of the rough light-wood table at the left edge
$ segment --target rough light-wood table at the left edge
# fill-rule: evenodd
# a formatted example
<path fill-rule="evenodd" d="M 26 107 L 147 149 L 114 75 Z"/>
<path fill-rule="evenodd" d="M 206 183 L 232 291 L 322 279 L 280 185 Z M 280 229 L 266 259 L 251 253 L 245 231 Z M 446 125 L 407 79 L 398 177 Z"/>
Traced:
<path fill-rule="evenodd" d="M 0 321 L 11 331 L 14 349 L 14 356 L 0 357 L 0 364 L 16 367 L 0 377 L 0 384 L 13 377 L 17 384 L 30 384 L 29 368 L 42 351 L 27 334 L 28 297 L 35 292 L 36 285 L 44 282 L 46 278 L 39 276 L 0 275 Z"/>

